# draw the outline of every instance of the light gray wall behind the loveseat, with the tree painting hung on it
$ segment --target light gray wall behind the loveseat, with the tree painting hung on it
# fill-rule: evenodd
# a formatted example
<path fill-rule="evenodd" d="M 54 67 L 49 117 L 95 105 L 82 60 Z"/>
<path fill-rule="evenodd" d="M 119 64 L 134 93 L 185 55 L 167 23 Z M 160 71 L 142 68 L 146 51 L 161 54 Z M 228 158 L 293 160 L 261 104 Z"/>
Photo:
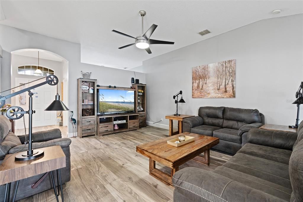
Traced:
<path fill-rule="evenodd" d="M 176 111 L 172 96 L 182 90 L 181 114 L 197 115 L 200 106 L 249 108 L 264 113 L 266 123 L 293 125 L 302 26 L 303 15 L 266 19 L 143 61 L 151 119 L 168 124 L 165 115 Z M 192 67 L 227 59 L 236 59 L 236 98 L 191 98 Z"/>

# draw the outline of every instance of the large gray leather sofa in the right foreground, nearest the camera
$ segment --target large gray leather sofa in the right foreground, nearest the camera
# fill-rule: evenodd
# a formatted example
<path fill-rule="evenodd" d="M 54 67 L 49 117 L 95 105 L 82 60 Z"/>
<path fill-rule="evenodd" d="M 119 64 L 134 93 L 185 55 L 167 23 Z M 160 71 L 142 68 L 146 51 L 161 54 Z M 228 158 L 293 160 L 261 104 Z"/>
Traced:
<path fill-rule="evenodd" d="M 251 129 L 246 143 L 213 171 L 173 176 L 174 201 L 303 201 L 303 122 L 298 134 Z"/>

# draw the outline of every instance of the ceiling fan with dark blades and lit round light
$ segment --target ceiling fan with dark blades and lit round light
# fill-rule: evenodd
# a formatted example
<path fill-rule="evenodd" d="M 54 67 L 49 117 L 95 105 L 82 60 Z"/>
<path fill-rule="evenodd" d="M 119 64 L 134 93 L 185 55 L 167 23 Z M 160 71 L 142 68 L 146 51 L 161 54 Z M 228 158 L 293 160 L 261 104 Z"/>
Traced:
<path fill-rule="evenodd" d="M 158 27 L 158 25 L 155 25 L 155 24 L 152 24 L 151 27 L 143 34 L 143 16 L 146 15 L 146 12 L 145 11 L 139 11 L 139 15 L 141 15 L 141 17 L 142 17 L 142 34 L 138 35 L 137 37 L 133 37 L 133 36 L 124 34 L 122 32 L 118 32 L 114 29 L 112 30 L 112 32 L 116 32 L 118 34 L 121 34 L 121 35 L 124 35 L 124 36 L 135 39 L 135 43 L 122 46 L 119 49 L 124 49 L 128 46 L 136 45 L 137 48 L 145 49 L 146 52 L 148 52 L 148 54 L 151 54 L 151 49 L 149 48 L 150 44 L 174 44 L 175 43 L 175 42 L 170 42 L 170 41 L 160 41 L 160 40 L 150 39 L 152 33 Z"/>

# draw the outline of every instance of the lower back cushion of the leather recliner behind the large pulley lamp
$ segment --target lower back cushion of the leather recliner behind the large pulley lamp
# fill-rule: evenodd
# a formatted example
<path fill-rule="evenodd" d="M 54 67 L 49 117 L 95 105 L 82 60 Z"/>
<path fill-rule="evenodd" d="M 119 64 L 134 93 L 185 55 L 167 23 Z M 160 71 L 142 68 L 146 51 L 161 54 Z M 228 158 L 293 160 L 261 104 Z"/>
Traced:
<path fill-rule="evenodd" d="M 8 154 L 9 150 L 15 146 L 22 146 L 21 142 L 14 133 L 11 131 L 4 137 L 2 142 L 0 143 L 0 159 L 4 158 L 6 154 Z"/>

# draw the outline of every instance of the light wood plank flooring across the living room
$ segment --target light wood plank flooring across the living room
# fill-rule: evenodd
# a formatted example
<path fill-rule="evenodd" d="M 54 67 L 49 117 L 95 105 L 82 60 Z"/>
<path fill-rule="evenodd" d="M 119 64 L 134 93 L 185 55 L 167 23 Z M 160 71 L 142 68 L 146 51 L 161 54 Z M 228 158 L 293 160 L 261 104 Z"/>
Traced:
<path fill-rule="evenodd" d="M 50 126 L 47 127 L 34 130 L 51 129 Z M 66 127 L 58 128 L 66 134 Z M 24 130 L 16 130 L 15 133 L 24 134 Z M 136 152 L 137 145 L 167 135 L 168 130 L 147 126 L 101 137 L 71 138 L 71 181 L 63 185 L 64 200 L 173 201 L 173 187 L 150 176 L 148 158 Z M 190 160 L 180 166 L 180 169 L 198 167 L 214 170 L 230 158 L 229 155 L 211 151 L 209 166 Z M 170 172 L 170 169 L 160 164 L 156 167 Z M 50 189 L 19 201 L 55 201 L 55 196 Z"/>

